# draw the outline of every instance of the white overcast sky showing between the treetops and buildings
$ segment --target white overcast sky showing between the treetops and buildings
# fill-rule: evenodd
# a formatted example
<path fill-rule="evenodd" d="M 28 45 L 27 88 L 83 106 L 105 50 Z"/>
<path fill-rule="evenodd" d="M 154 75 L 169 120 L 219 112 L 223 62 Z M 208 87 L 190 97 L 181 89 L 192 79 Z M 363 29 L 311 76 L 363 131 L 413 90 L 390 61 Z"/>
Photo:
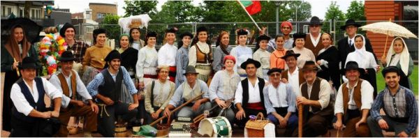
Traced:
<path fill-rule="evenodd" d="M 157 10 L 161 10 L 161 6 L 168 0 L 159 0 L 157 4 Z M 193 0 L 194 5 L 198 5 L 198 3 L 202 2 L 203 0 Z M 321 19 L 324 19 L 325 12 L 328 6 L 330 5 L 331 1 L 337 1 L 337 5 L 339 8 L 346 13 L 346 10 L 350 6 L 351 1 L 353 0 L 306 0 L 311 4 L 311 15 L 316 15 Z M 125 10 L 122 8 L 125 6 L 124 1 L 122 0 L 56 0 L 54 1 L 55 8 L 70 8 L 71 13 L 80 13 L 83 12 L 84 9 L 89 8 L 89 2 L 92 3 L 117 3 L 118 5 L 118 15 L 124 15 Z M 263 8 L 262 8 L 263 10 Z"/>

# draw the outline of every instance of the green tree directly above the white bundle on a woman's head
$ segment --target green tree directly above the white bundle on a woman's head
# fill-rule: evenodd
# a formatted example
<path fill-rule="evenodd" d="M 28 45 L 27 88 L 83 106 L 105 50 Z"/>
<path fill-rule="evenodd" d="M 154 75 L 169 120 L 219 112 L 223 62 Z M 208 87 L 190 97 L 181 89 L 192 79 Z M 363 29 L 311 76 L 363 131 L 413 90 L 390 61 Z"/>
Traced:
<path fill-rule="evenodd" d="M 124 17 L 129 17 L 131 15 L 142 15 L 149 14 L 150 17 L 156 15 L 157 10 L 157 1 L 124 1 L 126 6 L 124 6 L 125 15 Z"/>

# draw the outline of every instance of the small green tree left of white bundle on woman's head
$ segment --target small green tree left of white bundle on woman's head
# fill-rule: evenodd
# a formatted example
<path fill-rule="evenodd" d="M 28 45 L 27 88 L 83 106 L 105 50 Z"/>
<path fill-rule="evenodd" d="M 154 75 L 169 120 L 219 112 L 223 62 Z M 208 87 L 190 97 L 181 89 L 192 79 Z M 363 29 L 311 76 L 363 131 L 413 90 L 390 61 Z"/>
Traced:
<path fill-rule="evenodd" d="M 121 28 L 118 24 L 119 16 L 118 15 L 106 15 L 101 22 L 101 28 L 104 28 L 108 31 L 109 39 L 118 39 L 119 34 L 121 34 Z"/>

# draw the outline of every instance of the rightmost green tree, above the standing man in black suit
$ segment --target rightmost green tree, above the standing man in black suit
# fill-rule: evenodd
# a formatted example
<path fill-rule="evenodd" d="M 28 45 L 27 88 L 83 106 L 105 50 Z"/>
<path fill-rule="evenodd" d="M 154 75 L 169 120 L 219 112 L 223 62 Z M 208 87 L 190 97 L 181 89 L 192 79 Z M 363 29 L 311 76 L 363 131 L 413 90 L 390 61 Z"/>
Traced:
<path fill-rule="evenodd" d="M 363 1 L 352 1 L 346 12 L 346 18 L 355 21 L 366 20 Z"/>

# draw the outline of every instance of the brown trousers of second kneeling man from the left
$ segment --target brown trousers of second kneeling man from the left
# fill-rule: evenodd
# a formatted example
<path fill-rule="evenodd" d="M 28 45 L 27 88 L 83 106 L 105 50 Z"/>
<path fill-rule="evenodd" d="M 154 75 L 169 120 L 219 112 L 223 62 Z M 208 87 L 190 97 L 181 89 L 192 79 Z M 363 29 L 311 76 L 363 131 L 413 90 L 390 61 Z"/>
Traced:
<path fill-rule="evenodd" d="M 68 111 L 60 112 L 58 119 L 59 121 L 61 121 L 61 123 L 68 124 L 68 121 L 70 120 L 71 116 L 84 116 L 84 126 L 86 126 L 86 128 L 84 128 L 84 132 L 96 131 L 98 118 L 97 115 L 93 111 L 91 111 L 91 107 L 89 105 L 84 105 L 83 107 L 73 105 L 73 107 Z M 59 132 L 57 132 L 57 135 L 55 137 L 67 136 L 67 127 L 65 125 L 61 125 L 61 127 L 59 128 Z"/>

